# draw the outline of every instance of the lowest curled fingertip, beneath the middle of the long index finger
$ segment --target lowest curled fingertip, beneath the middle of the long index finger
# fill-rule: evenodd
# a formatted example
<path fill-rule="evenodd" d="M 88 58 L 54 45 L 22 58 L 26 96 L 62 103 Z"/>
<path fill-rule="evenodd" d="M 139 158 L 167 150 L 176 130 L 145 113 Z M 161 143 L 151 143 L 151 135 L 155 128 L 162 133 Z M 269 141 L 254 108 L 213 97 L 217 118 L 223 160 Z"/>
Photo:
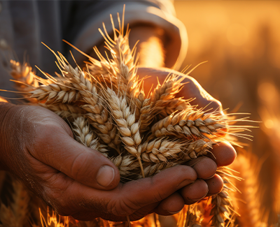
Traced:
<path fill-rule="evenodd" d="M 183 209 L 184 205 L 185 201 L 183 200 L 183 197 L 180 193 L 175 192 L 171 196 L 162 200 L 160 205 L 158 205 L 153 211 L 157 214 L 167 216 L 177 214 Z"/>

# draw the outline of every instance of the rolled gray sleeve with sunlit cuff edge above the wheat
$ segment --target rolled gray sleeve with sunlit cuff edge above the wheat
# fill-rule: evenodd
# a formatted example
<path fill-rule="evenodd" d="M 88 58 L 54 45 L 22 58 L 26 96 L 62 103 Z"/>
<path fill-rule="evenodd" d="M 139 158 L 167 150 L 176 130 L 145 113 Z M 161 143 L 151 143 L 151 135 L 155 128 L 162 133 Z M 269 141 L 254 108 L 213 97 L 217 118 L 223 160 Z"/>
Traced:
<path fill-rule="evenodd" d="M 80 3 L 83 2 L 83 3 Z M 166 66 L 181 66 L 188 48 L 188 36 L 183 23 L 176 18 L 172 1 L 79 1 L 74 6 L 75 15 L 70 18 L 73 23 L 68 41 L 84 52 L 91 52 L 92 47 L 103 41 L 98 28 L 105 23 L 107 31 L 112 31 L 110 14 L 118 24 L 117 13 L 123 14 L 125 4 L 125 24 L 152 24 L 165 30 L 167 36 Z M 118 26 L 116 26 L 118 28 Z M 83 56 L 74 52 L 77 61 Z"/>

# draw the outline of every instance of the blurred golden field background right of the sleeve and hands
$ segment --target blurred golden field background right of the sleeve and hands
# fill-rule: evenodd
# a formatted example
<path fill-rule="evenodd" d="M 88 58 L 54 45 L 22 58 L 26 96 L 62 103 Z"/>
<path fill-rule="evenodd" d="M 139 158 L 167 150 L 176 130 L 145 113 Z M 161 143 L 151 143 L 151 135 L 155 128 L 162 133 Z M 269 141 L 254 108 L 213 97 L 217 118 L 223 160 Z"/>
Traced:
<path fill-rule="evenodd" d="M 280 212 L 280 2 L 174 1 L 188 31 L 183 63 L 209 61 L 193 72 L 229 111 L 262 121 L 248 146 L 258 156 L 261 205 L 271 222 Z"/>

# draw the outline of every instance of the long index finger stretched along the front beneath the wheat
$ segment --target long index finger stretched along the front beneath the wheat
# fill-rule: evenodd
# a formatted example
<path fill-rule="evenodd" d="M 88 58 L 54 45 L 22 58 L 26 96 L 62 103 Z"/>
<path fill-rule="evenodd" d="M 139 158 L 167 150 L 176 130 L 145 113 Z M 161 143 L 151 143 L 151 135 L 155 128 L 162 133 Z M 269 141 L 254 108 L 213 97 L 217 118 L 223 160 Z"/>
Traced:
<path fill-rule="evenodd" d="M 164 200 L 183 186 L 194 182 L 196 178 L 197 174 L 190 166 L 174 166 L 162 170 L 153 177 L 119 184 L 116 189 L 111 191 L 92 189 L 78 182 L 73 182 L 55 199 L 59 200 L 58 206 L 63 205 L 60 207 L 62 211 L 69 209 L 69 203 L 76 200 L 79 201 L 78 205 L 81 207 L 75 210 L 100 212 L 102 213 L 100 217 L 106 217 L 109 214 L 116 217 L 126 217 L 142 207 Z M 69 195 L 71 195 L 70 201 Z M 70 211 L 69 213 L 68 215 L 72 215 Z"/>

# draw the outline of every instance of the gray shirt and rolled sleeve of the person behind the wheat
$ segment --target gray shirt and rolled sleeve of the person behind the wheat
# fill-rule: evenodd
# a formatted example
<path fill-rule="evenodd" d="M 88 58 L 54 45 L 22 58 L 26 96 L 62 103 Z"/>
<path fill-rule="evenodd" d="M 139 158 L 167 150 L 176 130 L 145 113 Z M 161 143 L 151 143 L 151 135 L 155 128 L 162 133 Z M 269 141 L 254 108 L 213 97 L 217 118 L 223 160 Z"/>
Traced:
<path fill-rule="evenodd" d="M 92 47 L 103 41 L 98 28 L 104 22 L 111 31 L 110 14 L 118 24 L 117 13 L 123 14 L 124 3 L 125 24 L 153 24 L 165 30 L 169 41 L 165 64 L 172 67 L 178 59 L 179 66 L 186 56 L 188 38 L 185 27 L 176 19 L 172 1 L 0 1 L 0 89 L 13 89 L 5 69 L 12 52 L 21 63 L 27 61 L 33 68 L 36 65 L 53 75 L 58 71 L 55 57 L 41 42 L 64 56 L 69 56 L 70 47 L 62 39 L 83 52 L 92 52 Z M 83 61 L 82 54 L 73 54 L 78 63 Z M 0 96 L 13 95 L 0 92 Z"/>

